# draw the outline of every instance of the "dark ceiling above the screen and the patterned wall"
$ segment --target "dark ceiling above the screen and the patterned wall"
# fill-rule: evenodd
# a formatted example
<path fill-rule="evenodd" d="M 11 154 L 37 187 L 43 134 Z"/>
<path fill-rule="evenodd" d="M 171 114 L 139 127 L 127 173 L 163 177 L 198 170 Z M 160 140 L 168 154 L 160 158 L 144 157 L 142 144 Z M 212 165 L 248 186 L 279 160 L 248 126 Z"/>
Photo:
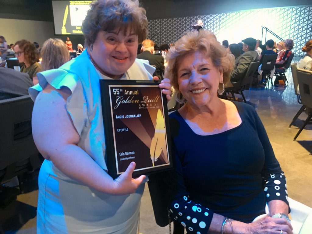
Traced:
<path fill-rule="evenodd" d="M 139 0 L 139 2 L 146 9 L 148 19 L 312 4 L 312 0 Z M 53 22 L 51 0 L 0 0 L 0 6 L 0 18 Z"/>

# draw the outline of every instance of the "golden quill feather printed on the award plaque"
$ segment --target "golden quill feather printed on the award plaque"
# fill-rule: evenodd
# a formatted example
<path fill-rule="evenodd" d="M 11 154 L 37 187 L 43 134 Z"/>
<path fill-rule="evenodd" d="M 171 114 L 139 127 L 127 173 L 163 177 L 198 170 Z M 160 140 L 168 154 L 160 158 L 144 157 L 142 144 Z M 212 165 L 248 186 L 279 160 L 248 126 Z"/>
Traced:
<path fill-rule="evenodd" d="M 157 161 L 163 150 L 164 143 L 165 143 L 165 120 L 163 119 L 163 114 L 161 113 L 161 110 L 158 109 L 155 134 L 151 142 L 151 147 L 149 149 L 153 167 L 155 166 L 155 162 Z"/>

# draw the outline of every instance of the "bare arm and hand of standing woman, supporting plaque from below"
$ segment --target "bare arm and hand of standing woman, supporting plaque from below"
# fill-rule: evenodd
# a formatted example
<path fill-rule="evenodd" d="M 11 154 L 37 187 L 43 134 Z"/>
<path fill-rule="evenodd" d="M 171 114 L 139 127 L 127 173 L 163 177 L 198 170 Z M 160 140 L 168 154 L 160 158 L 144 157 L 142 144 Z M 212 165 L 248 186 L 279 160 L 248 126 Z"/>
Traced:
<path fill-rule="evenodd" d="M 135 163 L 113 180 L 80 147 L 80 136 L 66 110 L 68 88 L 56 90 L 51 85 L 37 96 L 32 114 L 32 133 L 39 152 L 51 160 L 62 173 L 104 193 L 134 193 L 145 176 L 132 178 Z"/>

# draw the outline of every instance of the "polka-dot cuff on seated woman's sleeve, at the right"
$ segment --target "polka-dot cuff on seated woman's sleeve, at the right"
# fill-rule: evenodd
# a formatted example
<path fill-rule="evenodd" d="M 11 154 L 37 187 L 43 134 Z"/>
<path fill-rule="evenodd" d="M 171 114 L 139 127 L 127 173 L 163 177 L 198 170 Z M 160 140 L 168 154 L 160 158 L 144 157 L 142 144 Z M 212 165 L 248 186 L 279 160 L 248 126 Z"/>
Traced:
<path fill-rule="evenodd" d="M 270 174 L 270 177 L 265 181 L 264 185 L 266 202 L 282 200 L 288 204 L 286 187 L 286 178 L 283 172 Z"/>

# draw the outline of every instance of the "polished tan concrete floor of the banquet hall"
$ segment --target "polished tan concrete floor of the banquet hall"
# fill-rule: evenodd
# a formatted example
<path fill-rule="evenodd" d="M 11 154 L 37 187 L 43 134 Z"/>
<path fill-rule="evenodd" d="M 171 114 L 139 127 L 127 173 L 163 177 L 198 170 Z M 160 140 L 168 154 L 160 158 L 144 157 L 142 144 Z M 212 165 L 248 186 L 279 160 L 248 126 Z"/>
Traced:
<path fill-rule="evenodd" d="M 279 87 L 258 87 L 245 90 L 249 102 L 256 110 L 266 128 L 276 158 L 287 177 L 289 197 L 312 207 L 312 125 L 308 124 L 296 141 L 298 128 L 307 115 L 302 113 L 291 128 L 292 118 L 301 105 L 297 103 L 290 70 L 289 84 Z M 248 144 L 248 142 L 246 142 Z M 0 208 L 0 234 L 36 233 L 37 186 L 36 173 L 24 183 L 26 192 L 17 196 L 17 201 Z M 158 227 L 154 221 L 148 187 L 145 187 L 141 203 L 140 232 L 144 234 L 166 234 L 168 227 Z"/>

